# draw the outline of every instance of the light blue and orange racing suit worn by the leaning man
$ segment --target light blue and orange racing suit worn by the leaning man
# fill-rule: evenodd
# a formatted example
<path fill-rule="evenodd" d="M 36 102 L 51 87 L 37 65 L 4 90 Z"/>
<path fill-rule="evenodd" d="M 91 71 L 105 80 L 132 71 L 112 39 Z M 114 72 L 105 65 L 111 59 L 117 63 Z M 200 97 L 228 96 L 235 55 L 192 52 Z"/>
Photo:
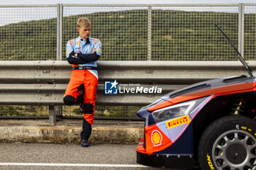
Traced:
<path fill-rule="evenodd" d="M 81 139 L 89 139 L 91 125 L 94 120 L 94 107 L 98 85 L 97 60 L 101 55 L 101 42 L 99 39 L 80 36 L 67 42 L 67 61 L 72 64 L 72 73 L 64 94 L 64 104 L 80 104 L 83 112 L 83 131 Z M 96 49 L 94 53 L 92 50 Z M 75 53 L 78 56 L 75 57 Z"/>

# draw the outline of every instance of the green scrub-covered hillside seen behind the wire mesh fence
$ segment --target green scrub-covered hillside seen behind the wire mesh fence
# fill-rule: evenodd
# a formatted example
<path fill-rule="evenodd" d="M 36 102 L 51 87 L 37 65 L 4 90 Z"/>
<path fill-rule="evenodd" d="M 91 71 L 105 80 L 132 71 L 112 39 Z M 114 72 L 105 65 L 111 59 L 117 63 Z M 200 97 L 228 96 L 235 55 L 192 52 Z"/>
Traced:
<path fill-rule="evenodd" d="M 91 36 L 102 41 L 102 57 L 109 61 L 146 61 L 148 11 L 95 12 L 63 19 L 63 59 L 69 39 L 78 36 L 76 20 L 90 18 Z M 238 46 L 238 14 L 152 10 L 151 60 L 236 60 L 236 53 L 214 26 L 219 26 Z M 255 14 L 245 15 L 244 57 L 255 60 Z M 0 60 L 55 60 L 56 18 L 13 23 L 0 27 Z"/>

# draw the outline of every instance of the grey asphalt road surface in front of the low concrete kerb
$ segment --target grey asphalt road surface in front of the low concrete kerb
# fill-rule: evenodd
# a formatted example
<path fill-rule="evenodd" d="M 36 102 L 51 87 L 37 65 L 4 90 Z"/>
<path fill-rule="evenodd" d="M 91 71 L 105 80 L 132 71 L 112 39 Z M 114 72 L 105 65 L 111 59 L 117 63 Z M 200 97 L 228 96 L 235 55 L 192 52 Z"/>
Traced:
<path fill-rule="evenodd" d="M 0 143 L 0 169 L 156 169 L 136 163 L 136 146 Z"/>

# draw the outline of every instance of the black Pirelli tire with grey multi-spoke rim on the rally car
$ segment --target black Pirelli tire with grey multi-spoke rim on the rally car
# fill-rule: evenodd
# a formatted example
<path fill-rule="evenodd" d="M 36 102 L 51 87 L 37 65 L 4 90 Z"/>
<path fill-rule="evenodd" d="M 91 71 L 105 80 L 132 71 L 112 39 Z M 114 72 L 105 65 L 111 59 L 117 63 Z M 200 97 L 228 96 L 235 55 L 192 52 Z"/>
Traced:
<path fill-rule="evenodd" d="M 244 116 L 225 116 L 203 132 L 198 160 L 201 169 L 256 169 L 256 122 Z"/>

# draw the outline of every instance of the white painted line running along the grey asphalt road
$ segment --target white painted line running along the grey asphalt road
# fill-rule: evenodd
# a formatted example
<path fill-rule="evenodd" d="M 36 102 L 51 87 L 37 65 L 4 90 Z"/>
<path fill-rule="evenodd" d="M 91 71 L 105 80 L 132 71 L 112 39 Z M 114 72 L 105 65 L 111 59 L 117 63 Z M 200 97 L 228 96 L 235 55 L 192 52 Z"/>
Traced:
<path fill-rule="evenodd" d="M 94 164 L 94 163 L 0 163 L 0 166 L 83 166 L 83 167 L 122 167 L 122 168 L 146 168 L 143 165 L 130 164 Z"/>

